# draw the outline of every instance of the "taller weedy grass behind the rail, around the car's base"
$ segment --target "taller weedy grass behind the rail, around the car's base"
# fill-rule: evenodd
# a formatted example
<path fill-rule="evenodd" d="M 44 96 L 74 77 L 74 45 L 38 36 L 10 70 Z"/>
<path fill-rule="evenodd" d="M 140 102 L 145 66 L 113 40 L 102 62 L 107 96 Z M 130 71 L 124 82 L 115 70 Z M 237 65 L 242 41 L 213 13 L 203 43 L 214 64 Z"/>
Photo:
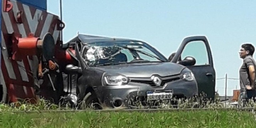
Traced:
<path fill-rule="evenodd" d="M 191 99 L 174 99 L 176 101 L 176 105 L 173 106 L 169 101 L 158 103 L 157 105 L 154 105 L 153 108 L 158 109 L 172 109 L 172 108 L 226 108 L 230 107 L 229 105 L 226 105 L 223 102 L 220 102 L 219 95 L 216 93 L 215 99 L 213 101 L 207 100 L 203 98 L 204 95 L 202 94 L 201 97 L 197 98 L 191 98 Z M 140 101 L 133 101 L 132 102 L 134 106 L 131 108 L 134 109 L 146 109 L 150 108 L 149 106 L 142 105 L 143 103 Z M 152 103 L 153 104 L 153 103 Z M 40 99 L 39 102 L 36 104 L 30 103 L 29 100 L 21 100 L 20 102 L 15 103 L 9 103 L 0 104 L 0 112 L 6 112 L 6 111 L 49 111 L 49 110 L 76 110 L 77 107 L 70 107 L 71 105 L 69 103 L 65 104 L 53 104 L 50 101 Z M 242 103 L 240 102 L 238 107 L 241 107 Z M 244 107 L 256 107 L 256 103 L 252 100 L 249 101 L 248 104 L 246 104 Z M 89 110 L 91 108 L 88 108 Z"/>

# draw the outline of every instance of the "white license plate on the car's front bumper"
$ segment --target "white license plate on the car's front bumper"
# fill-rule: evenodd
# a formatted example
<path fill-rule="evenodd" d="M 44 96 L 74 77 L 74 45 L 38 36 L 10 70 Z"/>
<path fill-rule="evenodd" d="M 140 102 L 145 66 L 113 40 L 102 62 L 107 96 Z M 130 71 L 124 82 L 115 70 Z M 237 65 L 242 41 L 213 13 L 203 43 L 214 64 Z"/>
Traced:
<path fill-rule="evenodd" d="M 172 98 L 170 92 L 147 92 L 147 100 L 169 100 Z"/>

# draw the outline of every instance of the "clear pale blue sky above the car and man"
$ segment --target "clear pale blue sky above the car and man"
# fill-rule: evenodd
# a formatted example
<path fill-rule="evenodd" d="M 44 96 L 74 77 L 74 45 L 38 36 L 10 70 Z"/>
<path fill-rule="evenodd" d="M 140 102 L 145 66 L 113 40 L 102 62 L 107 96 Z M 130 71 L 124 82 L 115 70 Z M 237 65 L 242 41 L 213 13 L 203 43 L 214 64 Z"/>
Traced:
<path fill-rule="evenodd" d="M 256 46 L 256 1 L 179 0 L 63 0 L 63 41 L 77 33 L 139 39 L 166 57 L 177 50 L 183 38 L 205 35 L 212 49 L 217 78 L 239 78 L 242 43 Z M 48 12 L 60 15 L 59 0 L 48 0 Z M 255 58 L 255 57 L 254 57 Z M 240 89 L 238 80 L 228 80 L 228 95 Z M 216 81 L 224 95 L 225 80 Z"/>

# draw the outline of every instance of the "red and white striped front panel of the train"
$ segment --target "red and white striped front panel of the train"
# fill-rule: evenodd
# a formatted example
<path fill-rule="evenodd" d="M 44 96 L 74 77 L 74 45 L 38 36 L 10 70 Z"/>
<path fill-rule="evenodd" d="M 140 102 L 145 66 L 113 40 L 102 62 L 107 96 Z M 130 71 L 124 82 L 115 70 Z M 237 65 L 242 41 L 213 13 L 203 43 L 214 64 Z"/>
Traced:
<path fill-rule="evenodd" d="M 3 2 L 2 0 L 2 5 Z M 11 3 L 13 4 L 11 11 L 4 12 L 1 10 L 2 74 L 0 74 L 0 76 L 3 76 L 7 90 L 9 89 L 8 92 L 16 93 L 17 90 L 15 91 L 15 86 L 24 86 L 22 87 L 23 92 L 25 97 L 27 97 L 33 95 L 33 90 L 31 90 L 33 86 L 31 63 L 33 60 L 30 59 L 31 57 L 24 57 L 21 62 L 10 60 L 6 49 L 7 37 L 5 34 L 15 32 L 20 33 L 22 37 L 27 37 L 29 33 L 34 33 L 35 37 L 42 39 L 44 34 L 49 32 L 53 35 L 56 44 L 59 39 L 59 31 L 57 30 L 57 22 L 55 21 L 58 20 L 59 17 L 32 6 L 22 4 L 16 0 L 11 0 Z M 22 23 L 16 22 L 18 11 L 23 12 Z M 18 88 L 20 89 L 20 87 L 17 87 L 17 89 Z"/>

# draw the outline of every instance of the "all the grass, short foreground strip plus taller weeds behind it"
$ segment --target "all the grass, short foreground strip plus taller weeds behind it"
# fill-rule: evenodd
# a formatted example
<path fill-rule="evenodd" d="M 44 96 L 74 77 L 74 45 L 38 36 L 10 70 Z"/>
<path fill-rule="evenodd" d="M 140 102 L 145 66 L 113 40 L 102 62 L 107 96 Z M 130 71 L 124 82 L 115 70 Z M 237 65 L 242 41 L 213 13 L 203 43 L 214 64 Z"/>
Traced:
<path fill-rule="evenodd" d="M 213 102 L 203 98 L 177 100 L 177 108 L 211 108 L 210 110 L 173 111 L 73 111 L 69 105 L 55 105 L 41 99 L 37 104 L 16 102 L 0 104 L 0 128 L 244 128 L 256 127 L 251 111 L 220 110 L 225 108 L 218 94 Z M 140 105 L 141 103 L 138 103 Z M 241 103 L 240 103 L 241 104 Z M 240 105 L 241 106 L 241 105 Z M 245 107 L 256 107 L 251 100 Z M 143 108 L 143 107 L 138 107 Z M 168 103 L 157 108 L 172 109 Z M 217 109 L 216 109 L 217 108 Z M 50 112 L 41 112 L 49 111 Z M 35 111 L 35 112 L 26 112 Z"/>

